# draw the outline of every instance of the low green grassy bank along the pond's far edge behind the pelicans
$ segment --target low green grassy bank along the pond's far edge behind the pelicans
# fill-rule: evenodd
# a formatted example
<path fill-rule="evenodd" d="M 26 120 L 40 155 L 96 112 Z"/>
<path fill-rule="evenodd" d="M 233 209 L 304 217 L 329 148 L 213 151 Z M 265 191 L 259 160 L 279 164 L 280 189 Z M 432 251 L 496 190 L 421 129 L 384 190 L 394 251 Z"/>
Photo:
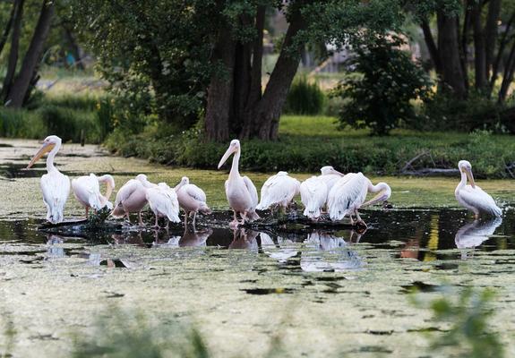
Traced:
<path fill-rule="evenodd" d="M 365 130 L 337 127 L 332 117 L 284 115 L 279 141 L 243 142 L 240 166 L 250 171 L 316 172 L 331 165 L 343 172 L 399 175 L 403 169 L 455 168 L 460 159 L 468 159 L 478 177 L 508 178 L 515 163 L 515 141 L 508 135 L 396 130 L 390 136 L 371 137 Z M 228 143 L 203 142 L 198 132 L 162 133 L 159 126 L 137 136 L 116 131 L 107 148 L 126 157 L 203 169 L 215 168 L 227 149 Z"/>

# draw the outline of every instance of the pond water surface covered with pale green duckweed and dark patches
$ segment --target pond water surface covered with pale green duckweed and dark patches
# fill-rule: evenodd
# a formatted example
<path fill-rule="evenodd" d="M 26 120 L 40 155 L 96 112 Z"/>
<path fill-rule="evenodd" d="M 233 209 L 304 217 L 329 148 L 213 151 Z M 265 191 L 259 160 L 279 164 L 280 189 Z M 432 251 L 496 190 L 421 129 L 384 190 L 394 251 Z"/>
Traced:
<path fill-rule="evenodd" d="M 0 150 L 0 185 L 7 185 L 0 352 L 11 322 L 14 356 L 67 356 L 74 335 L 89 335 L 99 313 L 115 304 L 193 324 L 220 357 L 265 354 L 272 337 L 292 356 L 430 356 L 420 332 L 441 327 L 408 303 L 408 293 L 416 287 L 432 294 L 449 284 L 498 289 L 494 330 L 513 353 L 511 209 L 485 221 L 460 209 L 371 210 L 360 232 L 300 224 L 231 230 L 226 211 L 199 217 L 196 228 L 168 231 L 119 221 L 101 230 L 80 223 L 42 229 L 43 166 L 21 170 L 35 146 L 14 142 Z M 87 173 L 84 167 L 123 167 L 116 177 L 122 180 L 151 168 L 123 166 L 133 159 L 107 158 L 91 147 L 73 150 L 63 167 L 72 176 Z M 69 219 L 81 218 L 72 199 L 67 210 Z"/>

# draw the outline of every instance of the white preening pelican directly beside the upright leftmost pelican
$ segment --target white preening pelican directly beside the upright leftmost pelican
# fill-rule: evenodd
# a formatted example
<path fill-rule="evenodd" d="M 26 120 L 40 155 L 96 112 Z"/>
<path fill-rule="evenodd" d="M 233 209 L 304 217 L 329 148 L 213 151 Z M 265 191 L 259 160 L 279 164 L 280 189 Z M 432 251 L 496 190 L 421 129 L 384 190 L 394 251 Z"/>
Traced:
<path fill-rule="evenodd" d="M 106 195 L 100 193 L 100 183 L 106 183 Z M 111 175 L 97 176 L 91 173 L 72 180 L 73 195 L 86 208 L 86 218 L 90 208 L 95 211 L 105 207 L 113 209 L 113 204 L 109 201 L 113 189 L 115 179 Z"/>

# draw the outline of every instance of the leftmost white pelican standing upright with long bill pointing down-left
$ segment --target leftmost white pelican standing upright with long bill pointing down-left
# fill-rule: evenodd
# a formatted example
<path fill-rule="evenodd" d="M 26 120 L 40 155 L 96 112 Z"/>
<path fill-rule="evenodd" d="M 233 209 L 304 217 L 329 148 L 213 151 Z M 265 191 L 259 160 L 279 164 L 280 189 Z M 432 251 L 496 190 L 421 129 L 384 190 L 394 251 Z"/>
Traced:
<path fill-rule="evenodd" d="M 41 192 L 43 192 L 43 201 L 47 206 L 47 220 L 52 224 L 63 221 L 64 204 L 70 194 L 70 178 L 63 175 L 54 166 L 54 158 L 56 158 L 56 154 L 61 148 L 61 142 L 61 138 L 56 135 L 45 138 L 38 153 L 27 166 L 27 169 L 29 169 L 45 153 L 50 152 L 47 156 L 47 174 L 41 176 Z"/>

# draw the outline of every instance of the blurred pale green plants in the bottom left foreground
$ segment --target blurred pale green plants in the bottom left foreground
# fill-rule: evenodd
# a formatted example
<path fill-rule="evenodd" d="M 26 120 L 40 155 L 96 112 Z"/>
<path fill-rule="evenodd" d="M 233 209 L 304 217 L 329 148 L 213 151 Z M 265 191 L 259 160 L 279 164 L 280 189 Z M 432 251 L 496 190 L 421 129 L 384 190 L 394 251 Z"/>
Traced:
<path fill-rule="evenodd" d="M 210 357 L 201 334 L 177 322 L 150 323 L 141 312 L 111 308 L 100 316 L 93 336 L 75 337 L 72 357 Z"/>

